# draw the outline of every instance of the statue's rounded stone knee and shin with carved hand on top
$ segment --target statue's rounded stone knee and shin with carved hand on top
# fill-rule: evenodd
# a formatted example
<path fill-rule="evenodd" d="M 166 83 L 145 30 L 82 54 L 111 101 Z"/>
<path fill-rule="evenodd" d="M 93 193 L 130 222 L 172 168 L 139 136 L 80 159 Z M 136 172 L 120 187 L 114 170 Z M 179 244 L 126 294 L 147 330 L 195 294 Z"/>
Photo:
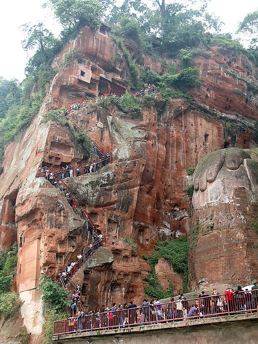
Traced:
<path fill-rule="evenodd" d="M 246 285 L 258 273 L 258 150 L 223 149 L 193 176 L 189 286 Z"/>

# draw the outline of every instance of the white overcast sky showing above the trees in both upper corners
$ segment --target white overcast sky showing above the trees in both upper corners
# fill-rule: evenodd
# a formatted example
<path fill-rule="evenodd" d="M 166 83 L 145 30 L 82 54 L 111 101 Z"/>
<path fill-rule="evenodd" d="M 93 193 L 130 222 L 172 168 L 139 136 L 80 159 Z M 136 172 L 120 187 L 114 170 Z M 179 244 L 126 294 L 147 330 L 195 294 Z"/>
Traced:
<path fill-rule="evenodd" d="M 180 1 L 180 0 L 179 0 Z M 178 2 L 179 2 L 178 1 Z M 0 76 L 6 79 L 25 78 L 24 68 L 28 54 L 23 51 L 21 41 L 23 33 L 19 27 L 25 23 L 44 22 L 46 27 L 58 35 L 60 26 L 51 16 L 50 11 L 42 9 L 46 0 L 8 0 L 0 5 Z M 120 3 L 120 1 L 119 1 Z M 247 13 L 257 9 L 255 0 L 210 0 L 209 13 L 220 17 L 225 26 L 222 32 L 234 33 L 239 22 Z"/>

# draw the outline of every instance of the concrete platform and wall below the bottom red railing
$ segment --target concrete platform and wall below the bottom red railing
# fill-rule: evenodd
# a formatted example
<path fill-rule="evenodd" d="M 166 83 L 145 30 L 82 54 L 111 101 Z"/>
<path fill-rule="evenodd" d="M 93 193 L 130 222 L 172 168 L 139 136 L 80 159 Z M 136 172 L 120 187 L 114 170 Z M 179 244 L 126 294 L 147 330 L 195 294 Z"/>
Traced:
<path fill-rule="evenodd" d="M 126 328 L 83 331 L 54 335 L 57 343 L 100 344 L 256 344 L 258 313 L 202 317 Z M 214 331 L 215 330 L 215 331 Z M 216 333 L 216 336 L 214 334 Z M 212 338 L 211 338 L 212 336 Z"/>

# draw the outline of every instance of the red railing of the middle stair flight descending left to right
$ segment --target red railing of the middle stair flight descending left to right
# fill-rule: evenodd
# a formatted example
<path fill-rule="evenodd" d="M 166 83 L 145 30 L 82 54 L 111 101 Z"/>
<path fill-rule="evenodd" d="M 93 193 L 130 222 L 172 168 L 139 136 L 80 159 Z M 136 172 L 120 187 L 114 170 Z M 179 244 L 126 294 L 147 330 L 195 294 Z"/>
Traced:
<path fill-rule="evenodd" d="M 59 187 L 61 191 L 65 191 L 66 194 L 69 194 L 69 197 L 73 201 L 72 206 L 76 207 L 76 209 L 80 212 L 80 216 L 82 219 L 85 220 L 86 224 L 88 225 L 88 229 L 95 229 L 95 224 L 91 220 L 89 214 L 83 208 L 79 199 L 73 194 L 72 190 L 68 187 L 68 185 L 64 182 L 63 179 L 59 178 L 59 176 L 56 173 L 52 172 L 51 169 L 47 166 L 40 169 L 38 177 L 46 178 L 50 181 L 52 185 Z"/>

